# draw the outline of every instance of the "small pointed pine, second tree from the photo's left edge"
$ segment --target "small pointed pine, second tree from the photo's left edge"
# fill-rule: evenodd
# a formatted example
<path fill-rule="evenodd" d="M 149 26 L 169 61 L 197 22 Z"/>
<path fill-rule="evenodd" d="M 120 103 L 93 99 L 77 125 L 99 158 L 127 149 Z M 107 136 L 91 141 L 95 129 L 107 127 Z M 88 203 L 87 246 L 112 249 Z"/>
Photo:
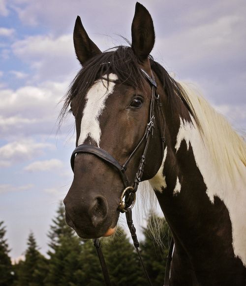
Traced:
<path fill-rule="evenodd" d="M 28 249 L 25 253 L 25 261 L 16 265 L 18 286 L 43 286 L 47 273 L 47 259 L 38 251 L 37 243 L 31 232 L 28 237 Z"/>

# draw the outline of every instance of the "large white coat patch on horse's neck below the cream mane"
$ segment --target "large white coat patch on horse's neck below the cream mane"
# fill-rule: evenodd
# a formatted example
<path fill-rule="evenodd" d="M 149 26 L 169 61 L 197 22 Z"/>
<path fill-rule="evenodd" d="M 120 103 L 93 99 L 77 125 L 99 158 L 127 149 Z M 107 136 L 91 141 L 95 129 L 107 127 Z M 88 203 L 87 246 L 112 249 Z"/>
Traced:
<path fill-rule="evenodd" d="M 235 182 L 233 183 L 229 177 L 221 179 L 215 164 L 211 158 L 211 154 L 202 141 L 199 131 L 193 125 L 180 118 L 180 129 L 177 135 L 177 143 L 175 145 L 176 152 L 179 150 L 181 142 L 185 140 L 187 149 L 189 143 L 192 146 L 196 165 L 199 168 L 204 182 L 207 185 L 207 195 L 211 202 L 214 203 L 214 197 L 219 197 L 225 204 L 232 224 L 233 249 L 235 256 L 238 256 L 246 266 L 246 190 L 244 180 L 240 174 L 245 174 L 246 168 L 240 161 L 238 168 L 242 172 L 236 173 Z"/>

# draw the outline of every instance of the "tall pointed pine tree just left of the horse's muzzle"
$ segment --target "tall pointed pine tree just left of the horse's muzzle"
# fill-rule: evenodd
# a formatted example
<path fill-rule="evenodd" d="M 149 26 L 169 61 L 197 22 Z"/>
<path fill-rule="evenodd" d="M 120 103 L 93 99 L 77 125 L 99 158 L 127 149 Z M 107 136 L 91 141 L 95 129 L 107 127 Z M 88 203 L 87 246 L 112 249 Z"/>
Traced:
<path fill-rule="evenodd" d="M 59 205 L 57 215 L 52 220 L 50 250 L 48 255 L 49 272 L 45 279 L 47 286 L 77 286 L 83 284 L 82 266 L 80 263 L 82 241 L 66 224 L 64 207 Z"/>

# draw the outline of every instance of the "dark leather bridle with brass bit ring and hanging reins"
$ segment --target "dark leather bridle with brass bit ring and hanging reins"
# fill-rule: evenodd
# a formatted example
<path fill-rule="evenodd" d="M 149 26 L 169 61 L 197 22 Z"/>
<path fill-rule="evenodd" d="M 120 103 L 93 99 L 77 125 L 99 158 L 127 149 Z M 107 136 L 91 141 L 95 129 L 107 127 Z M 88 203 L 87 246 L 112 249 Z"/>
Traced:
<path fill-rule="evenodd" d="M 139 254 L 140 261 L 141 261 L 142 266 L 144 268 L 146 277 L 147 277 L 150 285 L 152 285 L 150 278 L 148 276 L 148 273 L 147 273 L 145 266 L 143 264 L 142 258 L 140 256 L 140 252 L 138 250 L 139 242 L 137 240 L 136 229 L 135 229 L 135 227 L 133 225 L 133 221 L 132 221 L 131 209 L 133 208 L 133 206 L 135 204 L 136 191 L 138 189 L 138 185 L 139 185 L 139 183 L 142 179 L 143 173 L 144 173 L 144 167 L 145 167 L 145 161 L 146 161 L 146 154 L 148 151 L 148 146 L 149 146 L 151 137 L 153 137 L 154 124 L 155 124 L 155 116 L 154 116 L 155 102 L 156 102 L 156 107 L 157 107 L 158 121 L 160 124 L 159 129 L 161 132 L 160 141 L 161 141 L 161 149 L 162 149 L 162 158 L 164 156 L 164 147 L 165 147 L 165 118 L 164 118 L 164 114 L 163 114 L 163 111 L 161 108 L 162 104 L 160 102 L 159 95 L 157 94 L 157 84 L 154 80 L 153 73 L 151 72 L 152 76 L 149 76 L 149 74 L 147 72 L 145 72 L 143 69 L 140 69 L 140 70 L 143 72 L 144 76 L 147 78 L 148 82 L 151 85 L 152 96 L 151 96 L 151 104 L 150 104 L 150 112 L 149 112 L 149 122 L 146 126 L 145 133 L 144 133 L 143 137 L 141 138 L 141 140 L 139 141 L 139 143 L 137 144 L 135 149 L 131 152 L 128 159 L 125 161 L 125 163 L 123 165 L 121 165 L 107 151 L 105 151 L 101 148 L 92 146 L 92 145 L 81 144 L 81 145 L 77 146 L 74 149 L 74 151 L 72 152 L 71 167 L 72 167 L 72 170 L 74 171 L 74 160 L 75 160 L 76 154 L 89 153 L 89 154 L 93 154 L 93 155 L 97 156 L 98 158 L 105 161 L 107 164 L 111 165 L 112 167 L 114 167 L 118 171 L 118 173 L 119 173 L 119 175 L 123 181 L 123 185 L 124 185 L 124 190 L 123 190 L 122 195 L 121 195 L 121 200 L 120 200 L 120 204 L 118 206 L 118 209 L 120 210 L 121 213 L 125 213 L 125 215 L 126 215 L 126 221 L 127 221 L 127 225 L 129 227 L 130 233 L 131 233 L 131 237 L 133 239 L 133 244 L 134 244 L 134 246 L 135 246 L 135 248 Z M 135 175 L 135 179 L 134 179 L 133 183 L 131 184 L 129 182 L 127 176 L 126 176 L 125 171 L 127 169 L 127 165 L 130 162 L 131 158 L 134 156 L 136 151 L 139 149 L 139 147 L 144 142 L 145 142 L 144 151 L 143 151 L 143 154 L 142 154 L 140 161 L 139 161 L 139 166 L 138 166 L 138 170 L 137 170 L 136 175 Z M 100 249 L 100 242 L 98 239 L 94 239 L 93 242 L 94 242 L 94 246 L 96 247 L 98 257 L 99 257 L 99 260 L 101 263 L 105 283 L 108 286 L 108 285 L 110 285 L 110 280 L 109 280 L 107 267 L 106 267 L 106 264 L 104 261 L 104 257 L 103 257 L 103 254 L 101 252 L 101 249 Z M 170 261 L 170 263 L 171 263 L 171 261 Z M 168 267 L 170 267 L 170 266 L 168 266 Z M 168 273 L 168 277 L 169 277 L 169 273 Z M 165 281 L 166 281 L 166 277 L 165 277 Z M 166 285 L 168 285 L 168 284 L 166 284 Z"/>

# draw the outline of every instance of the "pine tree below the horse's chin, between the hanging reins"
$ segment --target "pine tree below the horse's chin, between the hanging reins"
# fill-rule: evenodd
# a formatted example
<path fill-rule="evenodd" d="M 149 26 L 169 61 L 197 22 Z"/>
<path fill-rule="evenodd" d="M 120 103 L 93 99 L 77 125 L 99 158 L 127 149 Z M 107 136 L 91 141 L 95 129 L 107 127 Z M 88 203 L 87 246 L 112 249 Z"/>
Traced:
<path fill-rule="evenodd" d="M 136 250 L 118 227 L 113 241 L 103 246 L 112 286 L 144 285 L 145 277 Z"/>

